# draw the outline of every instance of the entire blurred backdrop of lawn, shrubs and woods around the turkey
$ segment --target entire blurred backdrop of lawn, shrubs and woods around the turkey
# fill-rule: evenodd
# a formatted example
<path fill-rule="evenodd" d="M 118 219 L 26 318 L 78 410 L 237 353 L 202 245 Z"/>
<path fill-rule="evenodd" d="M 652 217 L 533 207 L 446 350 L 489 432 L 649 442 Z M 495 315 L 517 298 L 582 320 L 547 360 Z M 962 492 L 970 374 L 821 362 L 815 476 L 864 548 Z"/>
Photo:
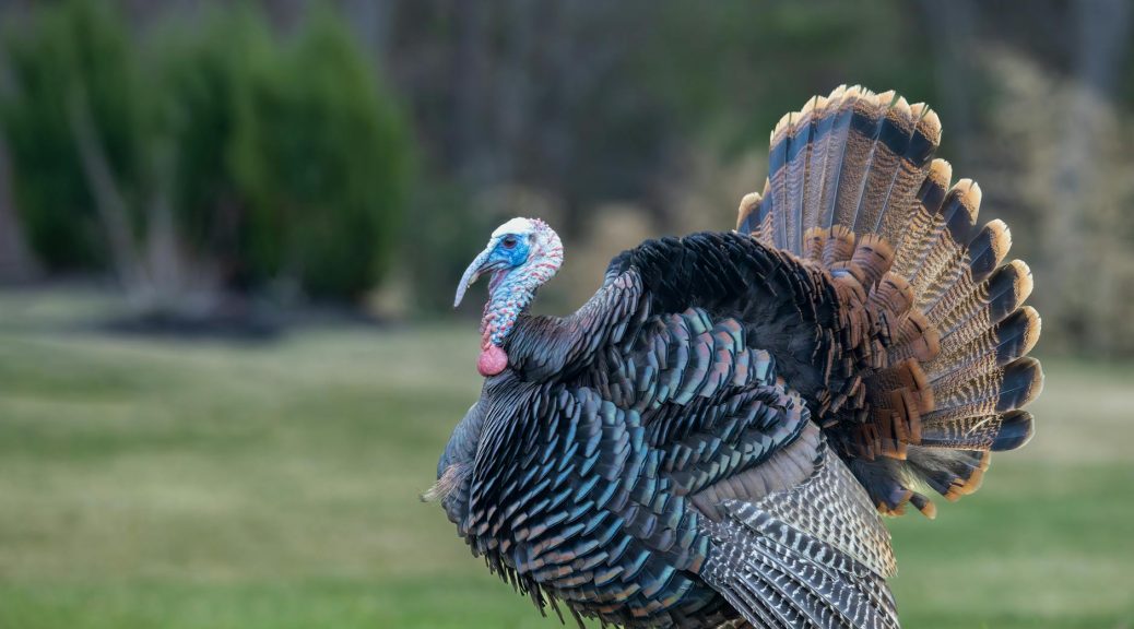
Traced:
<path fill-rule="evenodd" d="M 437 505 L 496 226 L 540 312 L 729 229 L 840 83 L 940 113 L 1044 318 L 1038 434 L 890 520 L 907 627 L 1134 626 L 1134 7 L 0 0 L 0 628 L 555 627 Z"/>

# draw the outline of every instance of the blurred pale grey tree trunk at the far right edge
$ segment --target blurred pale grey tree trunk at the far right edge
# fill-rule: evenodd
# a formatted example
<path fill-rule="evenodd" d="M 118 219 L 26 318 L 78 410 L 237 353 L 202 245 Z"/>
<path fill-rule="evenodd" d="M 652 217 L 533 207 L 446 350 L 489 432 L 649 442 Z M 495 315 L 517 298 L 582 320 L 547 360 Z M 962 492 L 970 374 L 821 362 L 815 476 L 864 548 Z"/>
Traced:
<path fill-rule="evenodd" d="M 1105 325 L 1106 313 L 1115 308 L 1115 269 L 1097 255 L 1097 243 L 1086 238 L 1091 190 L 1105 186 L 1100 168 L 1092 159 L 1106 133 L 1106 108 L 1114 102 L 1125 46 L 1131 34 L 1131 2 L 1127 0 L 1081 0 L 1073 5 L 1077 27 L 1075 59 L 1077 85 L 1064 125 L 1061 159 L 1055 172 L 1058 211 L 1049 214 L 1046 240 L 1049 275 L 1044 290 L 1064 306 L 1056 313 L 1058 324 L 1072 337 L 1101 354 L 1111 352 L 1114 341 Z M 1106 227 L 1103 227 L 1106 230 Z M 1109 236 L 1109 235 L 1107 235 Z M 1118 244 L 1115 244 L 1118 246 Z M 1101 315 L 1101 316 L 1100 316 Z"/>

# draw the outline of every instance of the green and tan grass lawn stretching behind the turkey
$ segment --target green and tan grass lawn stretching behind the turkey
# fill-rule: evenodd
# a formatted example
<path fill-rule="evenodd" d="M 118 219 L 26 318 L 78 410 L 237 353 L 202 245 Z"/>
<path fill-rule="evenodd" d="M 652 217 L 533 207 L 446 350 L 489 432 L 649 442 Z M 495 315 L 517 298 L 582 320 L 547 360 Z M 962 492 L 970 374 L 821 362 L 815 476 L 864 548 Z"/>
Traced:
<path fill-rule="evenodd" d="M 475 323 L 108 335 L 0 294 L 0 628 L 556 627 L 422 504 Z M 1134 623 L 1134 366 L 1046 363 L 1039 433 L 891 520 L 906 627 Z"/>

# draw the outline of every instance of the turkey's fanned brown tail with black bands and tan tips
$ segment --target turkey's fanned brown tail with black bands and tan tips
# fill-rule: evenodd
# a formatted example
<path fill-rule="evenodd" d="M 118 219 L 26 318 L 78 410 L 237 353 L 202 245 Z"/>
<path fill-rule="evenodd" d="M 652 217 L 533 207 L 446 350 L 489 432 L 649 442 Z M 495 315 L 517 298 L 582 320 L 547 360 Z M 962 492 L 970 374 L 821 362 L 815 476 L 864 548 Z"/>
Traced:
<path fill-rule="evenodd" d="M 824 267 L 844 311 L 831 390 L 812 400 L 833 448 L 883 512 L 929 487 L 975 491 L 990 451 L 1031 436 L 1042 389 L 1027 356 L 1032 277 L 1004 264 L 1007 226 L 978 226 L 981 189 L 934 160 L 937 114 L 892 92 L 838 87 L 785 116 L 762 195 L 737 230 Z"/>

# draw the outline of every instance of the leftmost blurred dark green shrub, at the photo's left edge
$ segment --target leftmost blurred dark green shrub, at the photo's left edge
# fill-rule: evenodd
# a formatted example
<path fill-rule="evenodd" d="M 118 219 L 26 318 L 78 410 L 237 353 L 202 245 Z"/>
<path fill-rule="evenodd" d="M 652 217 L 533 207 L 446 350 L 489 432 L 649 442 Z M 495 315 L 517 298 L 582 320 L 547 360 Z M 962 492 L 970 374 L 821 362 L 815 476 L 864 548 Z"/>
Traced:
<path fill-rule="evenodd" d="M 5 44 L 15 85 L 0 121 L 28 241 L 49 270 L 104 265 L 71 117 L 88 108 L 111 170 L 136 179 L 143 92 L 126 27 L 100 5 L 76 2 L 44 12 L 32 32 L 7 25 Z"/>

